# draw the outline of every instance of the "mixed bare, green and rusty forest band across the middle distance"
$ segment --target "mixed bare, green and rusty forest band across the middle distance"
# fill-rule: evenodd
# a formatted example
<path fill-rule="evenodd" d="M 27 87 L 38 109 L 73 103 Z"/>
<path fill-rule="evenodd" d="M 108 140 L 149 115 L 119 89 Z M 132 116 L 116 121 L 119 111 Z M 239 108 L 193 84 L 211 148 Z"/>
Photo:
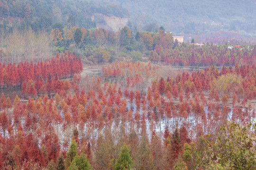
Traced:
<path fill-rule="evenodd" d="M 30 27 L 27 32 L 13 29 L 9 34 L 1 34 L 1 62 L 17 63 L 21 60 L 40 61 L 53 53 L 75 51 L 82 56 L 84 63 L 102 64 L 114 60 L 151 60 L 176 66 L 230 66 L 254 63 L 255 45 L 241 44 L 229 50 L 227 42 L 223 45 L 204 43 L 202 47 L 180 44 L 172 34 L 159 30 L 153 32 L 132 32 L 124 26 L 117 32 L 102 28 L 86 30 L 75 26 L 58 25 L 50 33 L 35 32 Z M 194 40 L 193 40 L 194 41 Z M 22 43 L 20 43 L 22 42 Z M 231 41 L 234 46 L 238 43 Z M 26 45 L 23 45 L 26 44 Z"/>

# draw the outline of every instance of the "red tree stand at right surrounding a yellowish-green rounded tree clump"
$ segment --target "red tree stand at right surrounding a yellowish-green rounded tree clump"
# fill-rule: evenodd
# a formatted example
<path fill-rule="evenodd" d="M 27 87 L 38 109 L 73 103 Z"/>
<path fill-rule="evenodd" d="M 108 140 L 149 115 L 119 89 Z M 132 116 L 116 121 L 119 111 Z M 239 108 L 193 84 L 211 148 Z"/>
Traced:
<path fill-rule="evenodd" d="M 159 86 L 157 82 L 153 82 L 152 89 L 156 89 L 157 86 Z M 178 92 L 196 93 L 218 90 L 221 96 L 225 93 L 236 93 L 240 98 L 253 100 L 256 96 L 256 67 L 255 64 L 240 67 L 236 64 L 235 68 L 224 66 L 221 71 L 214 66 L 191 73 L 183 71 L 175 78 L 162 80 L 160 87 L 160 93 L 166 94 L 170 91 L 175 98 L 178 97 Z"/>

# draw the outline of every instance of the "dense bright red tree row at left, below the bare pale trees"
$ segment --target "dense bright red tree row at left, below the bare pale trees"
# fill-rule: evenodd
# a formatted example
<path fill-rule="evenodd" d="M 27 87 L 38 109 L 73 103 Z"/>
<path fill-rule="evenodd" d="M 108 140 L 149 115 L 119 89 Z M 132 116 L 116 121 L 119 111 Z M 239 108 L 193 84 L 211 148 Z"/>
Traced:
<path fill-rule="evenodd" d="M 52 76 L 57 74 L 60 78 L 64 78 L 81 71 L 81 58 L 70 52 L 61 57 L 57 53 L 55 58 L 37 63 L 32 61 L 20 62 L 17 65 L 0 63 L 0 86 L 22 85 L 24 81 L 35 81 L 38 78 L 46 80 L 49 74 Z"/>

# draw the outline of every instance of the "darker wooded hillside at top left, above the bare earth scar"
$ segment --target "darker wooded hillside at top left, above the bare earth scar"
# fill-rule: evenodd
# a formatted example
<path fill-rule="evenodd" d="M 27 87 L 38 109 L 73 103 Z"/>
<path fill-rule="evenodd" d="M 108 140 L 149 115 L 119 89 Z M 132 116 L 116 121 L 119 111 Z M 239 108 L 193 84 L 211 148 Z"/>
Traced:
<path fill-rule="evenodd" d="M 70 24 L 86 29 L 96 27 L 95 21 L 101 23 L 102 18 L 91 20 L 94 13 L 125 17 L 128 11 L 110 4 L 96 4 L 86 0 L 0 0 L 0 18 L 5 22 L 21 22 L 21 26 L 31 26 L 33 30 L 49 29 L 55 23 Z"/>

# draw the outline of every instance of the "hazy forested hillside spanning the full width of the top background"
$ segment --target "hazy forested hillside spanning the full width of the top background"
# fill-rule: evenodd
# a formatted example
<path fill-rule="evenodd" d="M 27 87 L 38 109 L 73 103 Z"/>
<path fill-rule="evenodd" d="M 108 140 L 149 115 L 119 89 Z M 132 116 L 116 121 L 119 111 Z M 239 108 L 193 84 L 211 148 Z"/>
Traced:
<path fill-rule="evenodd" d="M 1 20 L 29 18 L 25 23 L 34 29 L 47 29 L 58 22 L 89 29 L 106 25 L 106 18 L 95 15 L 103 14 L 127 17 L 128 26 L 138 31 L 155 31 L 163 26 L 174 34 L 229 31 L 256 35 L 255 0 L 0 0 L 0 9 Z"/>

